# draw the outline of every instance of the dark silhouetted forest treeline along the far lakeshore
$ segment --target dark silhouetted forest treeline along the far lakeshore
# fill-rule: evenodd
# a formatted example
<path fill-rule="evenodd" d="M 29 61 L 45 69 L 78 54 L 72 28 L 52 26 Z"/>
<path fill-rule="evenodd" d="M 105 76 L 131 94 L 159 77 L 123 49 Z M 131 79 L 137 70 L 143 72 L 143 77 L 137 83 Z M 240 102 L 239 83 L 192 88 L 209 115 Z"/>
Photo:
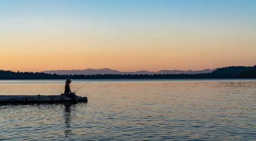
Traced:
<path fill-rule="evenodd" d="M 58 75 L 0 70 L 0 79 L 200 79 L 200 78 L 256 78 L 256 65 L 218 68 L 203 74 L 92 74 Z"/>

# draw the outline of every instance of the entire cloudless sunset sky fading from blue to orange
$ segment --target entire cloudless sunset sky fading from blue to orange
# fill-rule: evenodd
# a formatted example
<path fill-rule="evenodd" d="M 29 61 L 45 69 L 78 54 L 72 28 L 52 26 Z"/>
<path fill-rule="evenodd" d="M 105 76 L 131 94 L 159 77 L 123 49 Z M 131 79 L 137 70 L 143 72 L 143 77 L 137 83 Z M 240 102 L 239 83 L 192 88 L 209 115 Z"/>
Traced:
<path fill-rule="evenodd" d="M 0 69 L 256 64 L 255 0 L 0 0 Z"/>

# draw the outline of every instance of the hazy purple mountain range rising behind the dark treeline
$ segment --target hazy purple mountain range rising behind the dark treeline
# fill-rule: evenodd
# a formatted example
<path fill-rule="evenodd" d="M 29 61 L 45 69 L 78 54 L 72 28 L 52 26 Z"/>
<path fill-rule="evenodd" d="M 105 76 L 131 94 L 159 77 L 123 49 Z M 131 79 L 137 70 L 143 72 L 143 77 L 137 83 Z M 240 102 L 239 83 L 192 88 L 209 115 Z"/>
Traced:
<path fill-rule="evenodd" d="M 215 69 L 213 69 L 215 70 Z M 88 68 L 85 70 L 50 70 L 50 71 L 42 71 L 47 74 L 84 74 L 84 75 L 89 75 L 89 74 L 202 74 L 202 73 L 211 73 L 213 70 L 210 69 L 205 69 L 205 70 L 198 70 L 198 71 L 193 71 L 193 70 L 187 70 L 187 71 L 182 71 L 182 70 L 160 70 L 157 72 L 150 72 L 150 71 L 134 71 L 134 72 L 122 72 L 118 70 L 112 70 L 110 68 L 100 68 L 100 69 L 92 69 Z"/>

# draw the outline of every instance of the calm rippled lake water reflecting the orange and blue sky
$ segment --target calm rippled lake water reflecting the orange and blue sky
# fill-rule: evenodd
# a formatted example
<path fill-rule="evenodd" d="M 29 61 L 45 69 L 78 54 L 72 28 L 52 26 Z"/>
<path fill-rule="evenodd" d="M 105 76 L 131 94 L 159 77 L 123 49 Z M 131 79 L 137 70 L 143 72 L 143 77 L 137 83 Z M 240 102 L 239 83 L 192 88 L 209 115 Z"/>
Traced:
<path fill-rule="evenodd" d="M 0 81 L 5 95 L 60 94 L 64 85 Z M 0 105 L 0 140 L 256 140 L 255 79 L 95 80 L 77 95 L 88 103 Z"/>

